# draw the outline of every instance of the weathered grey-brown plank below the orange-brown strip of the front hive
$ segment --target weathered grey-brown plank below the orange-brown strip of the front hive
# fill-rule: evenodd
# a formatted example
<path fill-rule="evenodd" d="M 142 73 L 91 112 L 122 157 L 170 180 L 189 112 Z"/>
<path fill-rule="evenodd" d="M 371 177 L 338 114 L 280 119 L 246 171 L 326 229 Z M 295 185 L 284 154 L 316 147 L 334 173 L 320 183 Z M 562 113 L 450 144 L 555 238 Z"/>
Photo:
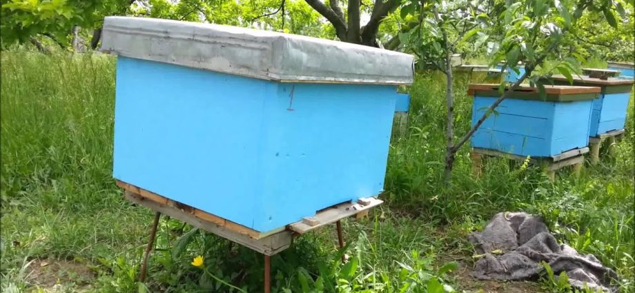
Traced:
<path fill-rule="evenodd" d="M 206 230 L 240 245 L 244 245 L 245 247 L 248 247 L 251 250 L 255 250 L 256 252 L 260 252 L 262 254 L 277 254 L 278 252 L 289 248 L 293 239 L 293 233 L 286 230 L 275 232 L 271 235 L 264 236 L 261 239 L 253 239 L 245 234 L 235 232 L 211 221 L 205 221 L 204 219 L 200 219 L 194 214 L 183 212 L 182 210 L 179 210 L 170 205 L 161 205 L 155 201 L 148 201 L 144 196 L 135 194 L 134 192 L 130 192 L 128 190 L 124 192 L 124 196 L 126 197 L 126 199 L 128 199 L 128 201 L 137 203 L 138 205 L 143 205 L 150 210 L 161 212 L 162 214 L 171 216 L 174 219 L 178 219 L 179 221 L 189 223 L 194 227 Z"/>

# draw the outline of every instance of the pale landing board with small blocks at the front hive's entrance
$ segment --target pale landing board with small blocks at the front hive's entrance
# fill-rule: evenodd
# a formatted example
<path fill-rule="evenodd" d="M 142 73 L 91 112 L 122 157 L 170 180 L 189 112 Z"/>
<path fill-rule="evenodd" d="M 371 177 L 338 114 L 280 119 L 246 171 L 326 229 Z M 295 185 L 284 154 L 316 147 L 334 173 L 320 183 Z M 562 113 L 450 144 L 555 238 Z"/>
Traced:
<path fill-rule="evenodd" d="M 335 205 L 332 208 L 327 208 L 326 210 L 317 212 L 317 214 L 313 216 L 313 218 L 317 219 L 317 221 L 319 222 L 316 225 L 309 225 L 304 221 L 298 221 L 289 225 L 289 229 L 297 232 L 298 234 L 304 234 L 311 230 L 320 228 L 324 225 L 335 223 L 336 221 L 339 221 L 341 219 L 353 216 L 360 212 L 367 211 L 384 202 L 380 199 L 375 199 L 374 197 L 369 197 L 365 200 L 369 201 L 367 205 L 362 205 L 360 203 L 340 203 L 339 205 Z"/>

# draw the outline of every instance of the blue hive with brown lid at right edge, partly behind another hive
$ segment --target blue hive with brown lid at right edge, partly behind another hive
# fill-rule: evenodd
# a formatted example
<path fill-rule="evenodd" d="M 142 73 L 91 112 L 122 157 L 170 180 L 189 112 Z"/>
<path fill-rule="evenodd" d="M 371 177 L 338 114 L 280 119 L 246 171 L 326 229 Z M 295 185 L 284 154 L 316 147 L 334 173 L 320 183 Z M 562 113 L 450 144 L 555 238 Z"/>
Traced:
<path fill-rule="evenodd" d="M 554 75 L 552 79 L 556 84 L 569 84 L 567 78 L 562 75 Z M 599 99 L 593 101 L 589 137 L 624 129 L 633 83 L 633 79 L 574 77 L 574 85 L 602 89 Z"/>

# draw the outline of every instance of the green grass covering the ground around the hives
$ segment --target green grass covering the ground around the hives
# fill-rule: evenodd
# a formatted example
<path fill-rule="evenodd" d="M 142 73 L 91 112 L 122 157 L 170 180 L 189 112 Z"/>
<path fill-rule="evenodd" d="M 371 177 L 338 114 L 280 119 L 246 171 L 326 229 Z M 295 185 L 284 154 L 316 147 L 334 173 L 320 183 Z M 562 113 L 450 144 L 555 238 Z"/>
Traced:
<path fill-rule="evenodd" d="M 200 254 L 215 276 L 260 291 L 259 254 L 202 232 L 191 233 L 184 251 L 174 251 L 191 228 L 173 219 L 161 221 L 148 281 L 136 282 L 153 214 L 124 201 L 111 178 L 114 61 L 26 50 L 1 54 L 0 290 L 52 290 L 37 274 L 46 268 L 41 261 L 65 261 L 86 267 L 81 277 L 70 269 L 55 272 L 67 292 L 227 292 L 190 265 Z M 465 283 L 457 275 L 438 270 L 450 260 L 471 265 L 467 234 L 496 212 L 524 210 L 542 214 L 560 241 L 614 267 L 622 291 L 635 292 L 633 134 L 616 145 L 615 158 L 585 168 L 578 178 L 564 170 L 556 183 L 536 168 L 502 159 L 488 160 L 476 178 L 464 148 L 445 186 L 442 79 L 420 74 L 411 88 L 409 134 L 393 139 L 390 149 L 382 195 L 387 204 L 367 220 L 344 221 L 349 265 L 339 264 L 334 228 L 302 236 L 272 258 L 273 291 L 398 292 L 410 284 L 413 292 L 427 292 L 437 276 L 460 287 Z M 471 119 L 468 80 L 456 80 L 458 134 Z M 629 111 L 627 128 L 634 129 Z"/>

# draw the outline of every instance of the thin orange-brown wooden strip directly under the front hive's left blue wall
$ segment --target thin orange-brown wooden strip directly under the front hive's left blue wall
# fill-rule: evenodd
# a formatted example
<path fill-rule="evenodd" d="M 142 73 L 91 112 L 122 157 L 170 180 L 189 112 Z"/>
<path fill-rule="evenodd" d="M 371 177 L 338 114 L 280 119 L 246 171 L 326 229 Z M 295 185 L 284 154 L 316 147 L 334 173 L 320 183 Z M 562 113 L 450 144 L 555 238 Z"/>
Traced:
<path fill-rule="evenodd" d="M 280 232 L 282 230 L 284 230 L 284 227 L 275 229 L 275 230 L 271 230 L 268 232 L 258 232 L 256 230 L 253 230 L 251 228 L 245 227 L 244 225 L 240 225 L 237 223 L 234 223 L 232 221 L 228 221 L 226 219 L 223 219 L 219 216 L 215 216 L 213 214 L 210 214 L 208 212 L 204 212 L 202 210 L 199 210 L 197 208 L 193 208 L 190 207 L 189 205 L 186 205 L 184 203 L 179 203 L 177 201 L 173 201 L 171 199 L 168 199 L 164 196 L 161 196 L 159 194 L 156 194 L 154 192 L 150 192 L 148 190 L 144 190 L 143 188 L 139 188 L 135 185 L 132 184 L 128 184 L 125 183 L 124 181 L 119 181 L 117 180 L 117 185 L 121 188 L 124 188 L 124 190 L 128 191 L 128 192 L 132 192 L 133 194 L 139 194 L 139 196 L 142 196 L 146 202 L 147 201 L 153 201 L 155 203 L 157 203 L 158 205 L 167 205 L 167 206 L 171 206 L 174 208 L 177 208 L 178 210 L 181 210 L 182 212 L 185 212 L 187 214 L 192 214 L 193 216 L 195 216 L 198 219 L 201 219 L 202 221 L 206 221 L 208 223 L 214 223 L 215 225 L 218 225 L 220 227 L 224 227 L 227 230 L 231 230 L 233 232 L 236 232 L 238 234 L 244 234 L 246 236 L 249 236 L 253 239 L 262 239 L 265 236 Z"/>

